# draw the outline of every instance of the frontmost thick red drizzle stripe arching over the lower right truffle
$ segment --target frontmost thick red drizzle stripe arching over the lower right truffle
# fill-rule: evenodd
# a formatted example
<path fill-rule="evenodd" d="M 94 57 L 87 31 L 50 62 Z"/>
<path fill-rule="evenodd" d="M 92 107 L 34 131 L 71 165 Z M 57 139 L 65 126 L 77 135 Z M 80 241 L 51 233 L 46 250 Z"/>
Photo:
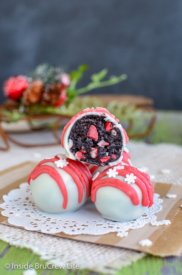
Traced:
<path fill-rule="evenodd" d="M 112 178 L 104 178 L 100 180 L 94 181 L 94 187 L 92 187 L 92 201 L 96 201 L 96 191 L 100 187 L 104 186 L 112 186 L 120 189 L 123 191 L 126 195 L 128 195 L 133 202 L 134 205 L 139 205 L 140 200 L 138 198 L 136 190 L 130 186 L 129 184 L 126 184 L 125 182 L 120 181 L 119 179 L 112 179 Z"/>

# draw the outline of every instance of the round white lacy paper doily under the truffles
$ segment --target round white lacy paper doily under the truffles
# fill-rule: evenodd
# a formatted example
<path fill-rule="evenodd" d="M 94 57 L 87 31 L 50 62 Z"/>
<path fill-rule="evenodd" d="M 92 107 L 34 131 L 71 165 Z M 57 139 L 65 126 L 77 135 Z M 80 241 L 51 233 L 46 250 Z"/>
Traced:
<path fill-rule="evenodd" d="M 130 222 L 114 222 L 104 219 L 96 211 L 94 203 L 88 199 L 77 211 L 67 214 L 50 214 L 42 212 L 33 202 L 28 183 L 22 183 L 20 188 L 11 190 L 4 195 L 4 203 L 0 205 L 3 216 L 15 226 L 27 230 L 40 230 L 42 233 L 56 234 L 63 232 L 69 235 L 91 234 L 101 235 L 110 232 L 125 232 L 128 229 L 143 227 L 148 222 L 156 220 L 155 213 L 162 209 L 162 199 L 154 194 L 154 204 L 147 209 L 145 215 Z"/>

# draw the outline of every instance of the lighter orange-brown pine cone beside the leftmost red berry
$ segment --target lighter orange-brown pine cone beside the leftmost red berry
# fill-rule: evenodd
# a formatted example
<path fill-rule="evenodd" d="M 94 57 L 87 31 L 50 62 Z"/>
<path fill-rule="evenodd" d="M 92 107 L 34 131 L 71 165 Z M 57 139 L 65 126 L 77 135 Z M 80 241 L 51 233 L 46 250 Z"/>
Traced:
<path fill-rule="evenodd" d="M 23 92 L 23 105 L 29 106 L 38 104 L 43 92 L 44 83 L 42 80 L 35 79 Z"/>

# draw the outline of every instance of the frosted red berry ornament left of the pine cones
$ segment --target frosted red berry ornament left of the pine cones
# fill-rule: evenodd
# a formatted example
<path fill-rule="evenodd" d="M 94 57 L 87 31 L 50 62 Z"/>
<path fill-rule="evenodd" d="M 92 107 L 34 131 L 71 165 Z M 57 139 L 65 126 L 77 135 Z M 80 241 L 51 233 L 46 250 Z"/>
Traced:
<path fill-rule="evenodd" d="M 27 77 L 24 75 L 11 76 L 3 84 L 3 93 L 6 97 L 19 100 L 23 91 L 28 87 Z"/>

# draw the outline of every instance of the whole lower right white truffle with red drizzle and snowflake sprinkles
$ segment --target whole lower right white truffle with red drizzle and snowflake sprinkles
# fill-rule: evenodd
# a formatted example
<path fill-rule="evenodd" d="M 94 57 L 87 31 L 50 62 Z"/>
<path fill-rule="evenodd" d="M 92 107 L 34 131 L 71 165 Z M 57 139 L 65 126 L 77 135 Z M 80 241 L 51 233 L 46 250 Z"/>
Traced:
<path fill-rule="evenodd" d="M 114 166 L 96 174 L 91 198 L 104 218 L 128 222 L 153 204 L 150 176 L 132 166 Z"/>

